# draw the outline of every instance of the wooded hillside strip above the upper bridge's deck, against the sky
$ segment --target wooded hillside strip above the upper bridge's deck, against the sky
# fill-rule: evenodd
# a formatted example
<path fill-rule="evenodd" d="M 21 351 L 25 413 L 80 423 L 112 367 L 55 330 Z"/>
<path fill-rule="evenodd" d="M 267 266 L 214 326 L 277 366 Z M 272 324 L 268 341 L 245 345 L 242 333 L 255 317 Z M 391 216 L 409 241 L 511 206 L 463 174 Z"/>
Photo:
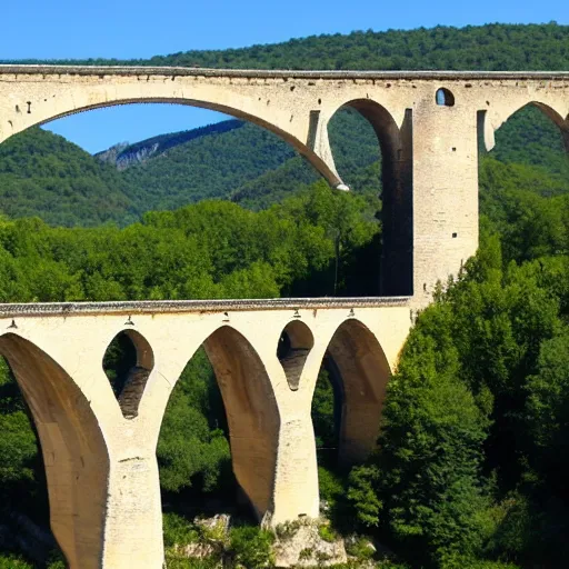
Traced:
<path fill-rule="evenodd" d="M 43 60 L 20 62 L 46 63 Z M 368 30 L 241 49 L 184 51 L 151 59 L 53 62 L 232 69 L 569 70 L 569 26 L 492 23 L 386 32 Z"/>

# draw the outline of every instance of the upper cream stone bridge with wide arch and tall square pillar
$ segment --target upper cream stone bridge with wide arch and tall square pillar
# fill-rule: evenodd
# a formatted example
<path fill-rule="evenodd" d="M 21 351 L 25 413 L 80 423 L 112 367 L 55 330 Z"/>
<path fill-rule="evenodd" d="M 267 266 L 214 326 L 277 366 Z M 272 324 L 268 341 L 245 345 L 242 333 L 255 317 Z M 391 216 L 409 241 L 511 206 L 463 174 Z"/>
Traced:
<path fill-rule="evenodd" d="M 332 184 L 328 123 L 357 109 L 382 154 L 381 295 L 421 307 L 478 243 L 478 141 L 533 103 L 569 148 L 569 72 L 247 71 L 0 66 L 0 142 L 32 124 L 133 102 L 226 112 L 289 142 Z"/>

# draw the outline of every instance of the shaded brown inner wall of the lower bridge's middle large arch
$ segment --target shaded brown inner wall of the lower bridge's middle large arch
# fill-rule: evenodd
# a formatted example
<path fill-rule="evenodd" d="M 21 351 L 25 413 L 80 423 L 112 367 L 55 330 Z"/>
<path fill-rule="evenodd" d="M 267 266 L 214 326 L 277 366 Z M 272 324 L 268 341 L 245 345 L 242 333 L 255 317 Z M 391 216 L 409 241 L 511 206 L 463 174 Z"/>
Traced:
<path fill-rule="evenodd" d="M 261 520 L 273 509 L 280 415 L 267 369 L 251 343 L 222 326 L 203 342 L 221 391 L 237 481 Z"/>

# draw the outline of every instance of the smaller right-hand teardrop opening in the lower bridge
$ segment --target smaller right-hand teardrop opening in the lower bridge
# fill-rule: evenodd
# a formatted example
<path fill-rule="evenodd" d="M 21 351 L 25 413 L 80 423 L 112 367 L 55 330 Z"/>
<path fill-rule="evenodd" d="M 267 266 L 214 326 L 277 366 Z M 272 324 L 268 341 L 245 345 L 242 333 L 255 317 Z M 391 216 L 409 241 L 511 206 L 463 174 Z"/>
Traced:
<path fill-rule="evenodd" d="M 282 330 L 277 357 L 291 391 L 297 391 L 299 388 L 302 369 L 313 346 L 315 337 L 305 322 L 292 320 Z"/>

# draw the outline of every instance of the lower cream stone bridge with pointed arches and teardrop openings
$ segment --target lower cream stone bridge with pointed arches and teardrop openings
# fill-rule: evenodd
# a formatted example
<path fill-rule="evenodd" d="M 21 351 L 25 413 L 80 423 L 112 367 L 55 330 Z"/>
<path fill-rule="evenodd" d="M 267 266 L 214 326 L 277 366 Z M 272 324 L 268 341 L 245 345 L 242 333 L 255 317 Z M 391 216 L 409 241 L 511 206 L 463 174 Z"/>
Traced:
<path fill-rule="evenodd" d="M 0 306 L 0 353 L 38 429 L 51 527 L 70 567 L 161 567 L 156 446 L 200 346 L 222 393 L 233 471 L 259 520 L 318 517 L 310 411 L 322 358 L 333 358 L 343 383 L 340 460 L 361 461 L 411 316 L 405 298 Z M 117 399 L 102 360 L 120 332 L 144 372 Z M 283 332 L 290 347 L 279 359 Z"/>

